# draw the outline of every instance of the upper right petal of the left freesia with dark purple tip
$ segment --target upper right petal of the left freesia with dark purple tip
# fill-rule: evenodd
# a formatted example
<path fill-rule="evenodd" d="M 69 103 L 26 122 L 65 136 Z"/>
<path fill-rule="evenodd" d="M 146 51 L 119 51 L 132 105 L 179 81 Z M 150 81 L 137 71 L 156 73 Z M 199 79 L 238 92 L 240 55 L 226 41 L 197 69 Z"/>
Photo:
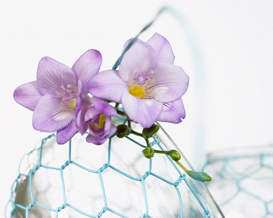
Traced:
<path fill-rule="evenodd" d="M 76 60 L 72 66 L 72 70 L 78 77 L 78 80 L 82 81 L 82 94 L 88 93 L 87 83 L 88 81 L 99 72 L 100 65 L 102 64 L 102 55 L 95 49 L 90 49 L 84 52 L 81 57 Z"/>

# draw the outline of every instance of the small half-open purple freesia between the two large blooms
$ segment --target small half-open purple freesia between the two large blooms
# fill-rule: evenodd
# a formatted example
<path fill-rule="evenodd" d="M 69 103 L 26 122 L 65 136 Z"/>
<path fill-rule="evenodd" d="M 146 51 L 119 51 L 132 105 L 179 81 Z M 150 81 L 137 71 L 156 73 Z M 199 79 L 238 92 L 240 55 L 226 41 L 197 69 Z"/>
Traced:
<path fill-rule="evenodd" d="M 90 102 L 93 104 L 91 107 L 85 104 L 80 108 L 76 116 L 76 127 L 81 135 L 89 129 L 90 134 L 87 135 L 86 141 L 101 145 L 116 132 L 117 127 L 111 124 L 111 116 L 118 114 L 106 101 L 92 98 Z"/>

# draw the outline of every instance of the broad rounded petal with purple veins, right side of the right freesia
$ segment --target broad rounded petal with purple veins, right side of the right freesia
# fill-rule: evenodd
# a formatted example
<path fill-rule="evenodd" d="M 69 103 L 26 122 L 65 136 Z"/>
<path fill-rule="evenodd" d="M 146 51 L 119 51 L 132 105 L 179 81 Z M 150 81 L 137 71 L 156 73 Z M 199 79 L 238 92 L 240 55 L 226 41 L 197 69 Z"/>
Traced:
<path fill-rule="evenodd" d="M 189 76 L 180 66 L 156 63 L 153 78 L 147 80 L 146 90 L 157 101 L 172 102 L 181 98 L 189 87 Z"/>

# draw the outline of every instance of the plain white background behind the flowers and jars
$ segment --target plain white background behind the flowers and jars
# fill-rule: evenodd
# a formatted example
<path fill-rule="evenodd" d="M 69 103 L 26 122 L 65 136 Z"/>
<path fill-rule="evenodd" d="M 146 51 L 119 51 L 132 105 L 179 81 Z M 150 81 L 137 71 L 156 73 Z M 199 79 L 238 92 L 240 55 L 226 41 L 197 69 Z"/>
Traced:
<path fill-rule="evenodd" d="M 272 1 L 5 1 L 0 8 L 0 213 L 20 158 L 48 135 L 32 128 L 32 112 L 13 100 L 14 89 L 36 80 L 43 56 L 71 67 L 86 50 L 97 49 L 101 70 L 112 68 L 125 41 L 167 3 L 181 11 L 187 25 L 181 28 L 165 12 L 140 39 L 155 32 L 166 37 L 174 64 L 190 76 L 182 98 L 186 119 L 162 124 L 185 156 L 198 168 L 205 152 L 273 142 Z"/>

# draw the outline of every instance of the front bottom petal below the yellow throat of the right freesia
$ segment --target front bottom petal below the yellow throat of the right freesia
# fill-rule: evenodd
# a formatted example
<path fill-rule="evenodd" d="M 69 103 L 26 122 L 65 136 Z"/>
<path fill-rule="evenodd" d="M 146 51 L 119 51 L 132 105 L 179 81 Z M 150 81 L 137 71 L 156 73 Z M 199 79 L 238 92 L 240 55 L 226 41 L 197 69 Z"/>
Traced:
<path fill-rule="evenodd" d="M 142 100 L 132 96 L 129 92 L 123 93 L 122 105 L 130 120 L 139 123 L 143 128 L 152 126 L 163 108 L 162 102 L 155 99 Z"/>

